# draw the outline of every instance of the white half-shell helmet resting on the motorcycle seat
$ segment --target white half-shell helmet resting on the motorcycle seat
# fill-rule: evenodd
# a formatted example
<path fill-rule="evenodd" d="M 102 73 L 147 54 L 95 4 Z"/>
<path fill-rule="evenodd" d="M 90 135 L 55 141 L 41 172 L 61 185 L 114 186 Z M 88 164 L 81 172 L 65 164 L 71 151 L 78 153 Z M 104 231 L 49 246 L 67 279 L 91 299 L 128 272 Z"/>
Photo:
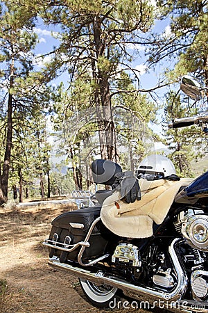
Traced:
<path fill-rule="evenodd" d="M 164 155 L 152 154 L 141 161 L 138 174 L 150 175 L 153 176 L 152 179 L 159 179 L 175 174 L 175 166 Z"/>

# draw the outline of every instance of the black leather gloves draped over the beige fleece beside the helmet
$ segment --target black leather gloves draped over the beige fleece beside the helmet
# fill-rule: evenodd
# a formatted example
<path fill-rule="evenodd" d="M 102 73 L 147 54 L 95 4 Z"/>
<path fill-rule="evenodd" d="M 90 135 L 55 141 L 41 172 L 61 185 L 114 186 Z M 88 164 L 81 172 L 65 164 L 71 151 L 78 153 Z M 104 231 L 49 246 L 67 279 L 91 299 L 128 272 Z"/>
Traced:
<path fill-rule="evenodd" d="M 125 202 L 135 202 L 141 200 L 141 191 L 138 179 L 133 172 L 117 172 L 115 174 L 115 182 L 112 186 L 116 191 L 120 191 L 121 198 L 125 198 Z"/>

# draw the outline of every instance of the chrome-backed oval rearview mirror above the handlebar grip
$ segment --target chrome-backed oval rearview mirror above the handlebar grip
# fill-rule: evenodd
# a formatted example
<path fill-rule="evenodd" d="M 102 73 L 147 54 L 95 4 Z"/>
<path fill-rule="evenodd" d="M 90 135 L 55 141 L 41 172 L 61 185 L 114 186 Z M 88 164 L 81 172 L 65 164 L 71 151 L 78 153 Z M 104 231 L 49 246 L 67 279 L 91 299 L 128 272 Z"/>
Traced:
<path fill-rule="evenodd" d="M 189 75 L 182 77 L 180 89 L 193 100 L 200 100 L 202 98 L 201 90 L 203 87 L 195 77 Z"/>

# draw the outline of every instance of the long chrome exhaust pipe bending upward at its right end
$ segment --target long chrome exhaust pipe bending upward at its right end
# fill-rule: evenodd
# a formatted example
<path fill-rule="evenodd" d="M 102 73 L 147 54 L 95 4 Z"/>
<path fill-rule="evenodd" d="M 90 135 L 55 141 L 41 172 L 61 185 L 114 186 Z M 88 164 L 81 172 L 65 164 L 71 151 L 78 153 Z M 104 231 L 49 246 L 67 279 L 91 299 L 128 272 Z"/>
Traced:
<path fill-rule="evenodd" d="M 95 282 L 97 284 L 110 284 L 113 287 L 117 287 L 123 290 L 123 293 L 128 296 L 132 296 L 132 298 L 152 298 L 152 300 L 163 299 L 163 300 L 180 300 L 183 294 L 187 291 L 188 278 L 186 273 L 182 270 L 180 266 L 180 262 L 177 259 L 177 254 L 175 252 L 175 246 L 183 242 L 182 239 L 176 238 L 172 241 L 171 246 L 169 246 L 169 253 L 171 255 L 171 259 L 173 262 L 173 266 L 175 268 L 175 272 L 177 273 L 177 284 L 172 291 L 161 291 L 156 290 L 149 287 L 141 287 L 135 284 L 130 284 L 125 280 L 120 280 L 114 276 L 107 276 L 102 271 L 98 271 L 96 273 L 92 273 L 91 271 L 87 271 L 85 268 L 79 268 L 73 266 L 71 264 L 60 263 L 57 257 L 53 257 L 49 259 L 49 265 L 62 268 L 64 270 L 69 271 L 72 275 L 83 278 L 85 280 L 89 280 Z M 89 264 L 88 264 L 89 265 Z"/>

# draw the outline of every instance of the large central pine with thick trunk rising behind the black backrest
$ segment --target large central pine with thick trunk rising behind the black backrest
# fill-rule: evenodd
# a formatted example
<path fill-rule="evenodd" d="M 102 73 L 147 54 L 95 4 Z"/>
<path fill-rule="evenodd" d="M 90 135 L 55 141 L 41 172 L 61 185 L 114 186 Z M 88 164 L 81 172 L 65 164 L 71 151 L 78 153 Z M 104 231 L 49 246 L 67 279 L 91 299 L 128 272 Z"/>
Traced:
<path fill-rule="evenodd" d="M 40 14 L 45 22 L 62 27 L 62 44 L 55 51 L 53 71 L 68 67 L 72 81 L 89 75 L 101 155 L 116 161 L 111 81 L 116 79 L 119 64 L 130 68 L 128 44 L 141 42 L 141 32 L 148 31 L 153 23 L 153 8 L 148 1 L 133 0 L 42 1 Z"/>

